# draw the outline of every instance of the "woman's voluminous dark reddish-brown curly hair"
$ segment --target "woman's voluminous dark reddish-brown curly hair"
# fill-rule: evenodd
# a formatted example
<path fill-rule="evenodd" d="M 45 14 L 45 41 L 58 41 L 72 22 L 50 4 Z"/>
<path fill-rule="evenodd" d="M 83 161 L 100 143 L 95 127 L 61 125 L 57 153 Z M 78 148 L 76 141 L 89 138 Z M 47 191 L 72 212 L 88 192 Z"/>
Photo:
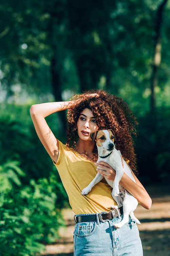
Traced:
<path fill-rule="evenodd" d="M 93 93 L 97 93 L 97 95 L 95 97 L 90 96 Z M 92 111 L 99 130 L 112 129 L 114 131 L 117 150 L 120 150 L 125 160 L 130 161 L 130 167 L 137 174 L 132 135 L 137 135 L 136 126 L 138 122 L 128 104 L 122 98 L 103 90 L 90 90 L 80 95 L 74 95 L 71 99 L 76 101 L 67 112 L 66 146 L 68 148 L 76 147 L 78 140 L 77 122 L 81 112 L 88 108 Z"/>

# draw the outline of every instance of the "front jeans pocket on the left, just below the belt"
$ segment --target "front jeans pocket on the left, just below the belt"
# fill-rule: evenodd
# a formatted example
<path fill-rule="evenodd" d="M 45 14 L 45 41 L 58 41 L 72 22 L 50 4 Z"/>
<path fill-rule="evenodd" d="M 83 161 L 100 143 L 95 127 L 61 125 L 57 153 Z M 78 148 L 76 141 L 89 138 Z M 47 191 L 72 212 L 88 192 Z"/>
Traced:
<path fill-rule="evenodd" d="M 86 237 L 92 235 L 96 230 L 96 222 L 81 222 L 75 229 L 77 237 Z"/>

